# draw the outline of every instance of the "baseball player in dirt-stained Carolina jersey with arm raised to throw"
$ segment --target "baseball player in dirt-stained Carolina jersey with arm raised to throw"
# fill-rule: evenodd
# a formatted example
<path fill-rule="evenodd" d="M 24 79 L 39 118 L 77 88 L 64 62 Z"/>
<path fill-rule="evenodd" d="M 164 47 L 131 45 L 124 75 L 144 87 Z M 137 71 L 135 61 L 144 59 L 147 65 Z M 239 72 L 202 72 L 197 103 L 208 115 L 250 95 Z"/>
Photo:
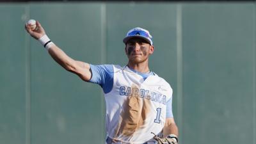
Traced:
<path fill-rule="evenodd" d="M 123 40 L 128 62 L 120 67 L 73 60 L 51 42 L 38 21 L 36 29 L 32 30 L 29 24 L 25 28 L 63 68 L 102 87 L 106 100 L 106 144 L 178 143 L 172 88 L 148 67 L 154 45 L 146 29 L 128 31 Z"/>

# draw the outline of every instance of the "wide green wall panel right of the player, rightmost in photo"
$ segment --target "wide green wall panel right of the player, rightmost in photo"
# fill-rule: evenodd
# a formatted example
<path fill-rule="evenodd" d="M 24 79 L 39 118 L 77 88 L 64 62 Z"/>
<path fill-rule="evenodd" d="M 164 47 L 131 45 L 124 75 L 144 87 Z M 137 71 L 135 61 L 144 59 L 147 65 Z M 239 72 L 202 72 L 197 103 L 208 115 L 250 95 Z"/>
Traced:
<path fill-rule="evenodd" d="M 255 5 L 184 4 L 182 31 L 184 143 L 253 143 Z"/>

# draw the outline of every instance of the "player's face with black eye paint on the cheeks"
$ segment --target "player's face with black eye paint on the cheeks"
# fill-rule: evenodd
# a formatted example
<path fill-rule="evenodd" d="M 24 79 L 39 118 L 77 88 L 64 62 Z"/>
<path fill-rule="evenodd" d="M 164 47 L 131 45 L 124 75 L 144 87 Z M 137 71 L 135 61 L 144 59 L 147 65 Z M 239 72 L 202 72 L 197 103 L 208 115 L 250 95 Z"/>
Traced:
<path fill-rule="evenodd" d="M 141 63 L 148 60 L 154 52 L 154 47 L 141 38 L 132 38 L 125 46 L 125 53 L 130 62 Z"/>

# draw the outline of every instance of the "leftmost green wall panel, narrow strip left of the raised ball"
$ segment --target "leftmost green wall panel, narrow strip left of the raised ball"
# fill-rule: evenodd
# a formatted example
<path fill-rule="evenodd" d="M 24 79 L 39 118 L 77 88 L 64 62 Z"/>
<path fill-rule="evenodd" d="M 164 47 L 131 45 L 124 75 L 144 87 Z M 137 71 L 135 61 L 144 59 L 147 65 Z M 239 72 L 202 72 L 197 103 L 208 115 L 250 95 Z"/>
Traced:
<path fill-rule="evenodd" d="M 26 141 L 24 5 L 0 4 L 0 143 Z"/>

